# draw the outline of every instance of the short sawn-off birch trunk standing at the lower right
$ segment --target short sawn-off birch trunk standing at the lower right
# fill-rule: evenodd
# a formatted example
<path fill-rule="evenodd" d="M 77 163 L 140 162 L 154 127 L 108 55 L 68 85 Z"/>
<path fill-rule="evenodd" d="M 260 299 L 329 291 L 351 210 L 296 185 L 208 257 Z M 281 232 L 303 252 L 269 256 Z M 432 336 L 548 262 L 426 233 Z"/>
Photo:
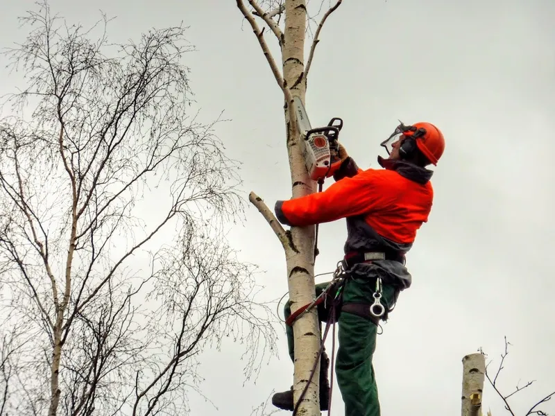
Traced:
<path fill-rule="evenodd" d="M 486 358 L 484 354 L 463 357 L 463 395 L 461 416 L 482 416 L 481 398 L 484 390 Z"/>

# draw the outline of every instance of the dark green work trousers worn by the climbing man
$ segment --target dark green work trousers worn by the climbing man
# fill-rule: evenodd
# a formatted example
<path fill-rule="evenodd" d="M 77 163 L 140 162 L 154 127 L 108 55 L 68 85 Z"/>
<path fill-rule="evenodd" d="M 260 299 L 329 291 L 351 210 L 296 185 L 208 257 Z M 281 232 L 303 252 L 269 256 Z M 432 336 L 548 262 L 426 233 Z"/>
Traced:
<path fill-rule="evenodd" d="M 343 303 L 374 302 L 374 279 L 354 279 L 349 277 L 343 288 Z M 328 286 L 329 282 L 316 285 L 316 296 Z M 395 288 L 382 286 L 382 304 L 386 309 L 395 302 Z M 329 305 L 328 305 L 329 309 Z M 318 319 L 327 321 L 328 310 L 324 302 L 318 305 Z M 336 311 L 336 315 L 339 311 Z M 285 318 L 291 315 L 291 304 L 284 306 Z M 379 399 L 373 354 L 376 348 L 377 326 L 358 315 L 342 311 L 338 320 L 339 348 L 336 356 L 336 378 L 343 403 L 345 416 L 380 416 Z M 286 326 L 289 356 L 294 359 L 293 328 Z M 333 370 L 333 369 L 332 369 Z"/>

